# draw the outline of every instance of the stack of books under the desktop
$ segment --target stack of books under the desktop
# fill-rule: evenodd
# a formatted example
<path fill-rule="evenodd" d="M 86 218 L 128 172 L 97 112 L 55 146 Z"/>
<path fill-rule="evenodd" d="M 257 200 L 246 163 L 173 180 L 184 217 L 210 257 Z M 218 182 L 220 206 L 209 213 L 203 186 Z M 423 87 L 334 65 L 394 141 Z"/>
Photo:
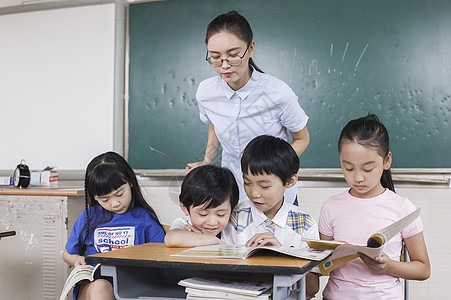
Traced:
<path fill-rule="evenodd" d="M 205 274 L 183 279 L 179 285 L 186 287 L 186 299 L 271 299 L 272 276 L 245 273 Z"/>

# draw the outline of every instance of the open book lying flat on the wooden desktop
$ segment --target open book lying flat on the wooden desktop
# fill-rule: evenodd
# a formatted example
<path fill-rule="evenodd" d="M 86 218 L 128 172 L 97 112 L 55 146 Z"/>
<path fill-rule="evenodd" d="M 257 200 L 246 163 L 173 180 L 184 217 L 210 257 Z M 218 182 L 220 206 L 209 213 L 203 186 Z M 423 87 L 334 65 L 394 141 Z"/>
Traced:
<path fill-rule="evenodd" d="M 250 255 L 265 251 L 273 251 L 296 258 L 308 260 L 323 260 L 332 253 L 332 250 L 309 249 L 309 248 L 292 248 L 278 246 L 235 246 L 235 245 L 210 245 L 197 246 L 190 248 L 171 256 L 183 257 L 204 257 L 204 258 L 248 258 Z"/>

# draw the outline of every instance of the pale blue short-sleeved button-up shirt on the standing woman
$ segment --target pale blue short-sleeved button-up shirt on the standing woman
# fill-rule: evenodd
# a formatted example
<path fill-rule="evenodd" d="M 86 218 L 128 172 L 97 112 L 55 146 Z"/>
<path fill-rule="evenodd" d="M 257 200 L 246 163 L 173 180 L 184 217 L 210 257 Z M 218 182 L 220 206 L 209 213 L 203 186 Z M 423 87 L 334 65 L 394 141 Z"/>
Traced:
<path fill-rule="evenodd" d="M 307 125 L 308 116 L 298 97 L 282 80 L 253 70 L 249 81 L 234 91 L 219 76 L 202 81 L 196 93 L 200 119 L 212 123 L 222 145 L 222 166 L 229 168 L 240 189 L 240 202 L 247 200 L 241 172 L 244 148 L 259 135 L 272 135 L 287 141 L 288 133 Z M 297 185 L 285 190 L 293 203 Z"/>

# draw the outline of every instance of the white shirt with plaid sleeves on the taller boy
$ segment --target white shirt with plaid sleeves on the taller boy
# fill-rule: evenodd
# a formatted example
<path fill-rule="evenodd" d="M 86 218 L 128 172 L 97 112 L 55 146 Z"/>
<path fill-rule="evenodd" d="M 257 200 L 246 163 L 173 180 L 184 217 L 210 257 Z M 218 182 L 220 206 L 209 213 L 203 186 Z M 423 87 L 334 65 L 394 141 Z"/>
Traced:
<path fill-rule="evenodd" d="M 267 220 L 266 215 L 251 201 L 241 202 L 233 210 L 221 239 L 228 245 L 244 245 L 255 234 L 269 231 Z M 308 247 L 301 238 L 319 239 L 315 220 L 286 201 L 272 221 L 275 225 L 274 236 L 284 247 Z"/>

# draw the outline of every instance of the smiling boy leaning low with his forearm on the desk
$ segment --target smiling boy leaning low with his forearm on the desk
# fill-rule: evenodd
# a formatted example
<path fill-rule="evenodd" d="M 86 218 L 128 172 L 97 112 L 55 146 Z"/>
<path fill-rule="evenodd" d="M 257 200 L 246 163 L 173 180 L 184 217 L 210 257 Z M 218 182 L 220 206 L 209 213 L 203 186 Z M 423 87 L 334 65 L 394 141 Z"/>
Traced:
<path fill-rule="evenodd" d="M 223 244 L 220 234 L 238 203 L 238 186 L 230 170 L 214 165 L 189 172 L 179 204 L 187 219 L 178 218 L 165 237 L 168 247 Z"/>

